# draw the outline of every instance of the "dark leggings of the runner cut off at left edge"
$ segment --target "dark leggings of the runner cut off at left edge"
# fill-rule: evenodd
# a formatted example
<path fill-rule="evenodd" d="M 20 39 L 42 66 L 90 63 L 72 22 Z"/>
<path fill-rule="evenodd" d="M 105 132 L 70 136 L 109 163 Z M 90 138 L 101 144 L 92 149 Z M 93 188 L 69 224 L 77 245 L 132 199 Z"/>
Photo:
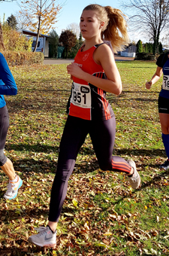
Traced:
<path fill-rule="evenodd" d="M 8 108 L 5 105 L 0 108 L 0 166 L 7 162 L 7 157 L 4 154 L 5 142 L 9 127 Z"/>

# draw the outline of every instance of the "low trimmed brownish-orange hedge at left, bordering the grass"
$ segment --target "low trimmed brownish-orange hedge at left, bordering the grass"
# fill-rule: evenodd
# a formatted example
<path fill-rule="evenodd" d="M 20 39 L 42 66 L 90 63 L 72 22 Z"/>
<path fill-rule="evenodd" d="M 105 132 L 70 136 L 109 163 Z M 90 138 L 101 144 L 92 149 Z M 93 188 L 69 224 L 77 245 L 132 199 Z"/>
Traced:
<path fill-rule="evenodd" d="M 43 64 L 44 53 L 41 52 L 17 52 L 13 50 L 5 50 L 2 52 L 9 66 Z"/>

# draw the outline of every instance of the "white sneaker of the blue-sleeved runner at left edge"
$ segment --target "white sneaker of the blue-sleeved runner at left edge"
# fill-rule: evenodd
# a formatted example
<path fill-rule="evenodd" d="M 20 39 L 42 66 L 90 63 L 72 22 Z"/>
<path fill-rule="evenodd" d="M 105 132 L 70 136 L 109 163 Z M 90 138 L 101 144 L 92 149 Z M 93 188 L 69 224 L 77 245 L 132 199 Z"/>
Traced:
<path fill-rule="evenodd" d="M 17 181 L 16 182 L 11 182 L 9 181 L 7 188 L 8 190 L 6 191 L 4 197 L 5 199 L 11 200 L 17 197 L 17 192 L 19 188 L 22 186 L 23 181 L 22 179 L 17 175 Z"/>

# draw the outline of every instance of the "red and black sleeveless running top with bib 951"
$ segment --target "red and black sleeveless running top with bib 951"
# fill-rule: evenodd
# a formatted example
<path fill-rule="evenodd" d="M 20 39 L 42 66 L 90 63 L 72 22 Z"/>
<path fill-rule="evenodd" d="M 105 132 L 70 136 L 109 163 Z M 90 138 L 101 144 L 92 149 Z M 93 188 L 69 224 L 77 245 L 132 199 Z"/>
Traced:
<path fill-rule="evenodd" d="M 95 63 L 93 53 L 101 44 L 94 45 L 89 50 L 77 52 L 74 63 L 84 72 L 106 79 L 101 65 Z M 71 96 L 68 102 L 68 114 L 85 120 L 108 120 L 113 117 L 113 110 L 105 98 L 106 92 L 88 82 L 73 77 Z"/>

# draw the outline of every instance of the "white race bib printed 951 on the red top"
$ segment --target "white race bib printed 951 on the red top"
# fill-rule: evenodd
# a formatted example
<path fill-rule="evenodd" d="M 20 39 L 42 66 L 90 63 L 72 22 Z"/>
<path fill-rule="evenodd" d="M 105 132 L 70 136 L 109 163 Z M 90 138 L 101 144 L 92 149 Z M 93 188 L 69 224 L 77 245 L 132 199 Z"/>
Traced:
<path fill-rule="evenodd" d="M 80 108 L 91 108 L 91 89 L 83 84 L 72 84 L 71 103 Z"/>

